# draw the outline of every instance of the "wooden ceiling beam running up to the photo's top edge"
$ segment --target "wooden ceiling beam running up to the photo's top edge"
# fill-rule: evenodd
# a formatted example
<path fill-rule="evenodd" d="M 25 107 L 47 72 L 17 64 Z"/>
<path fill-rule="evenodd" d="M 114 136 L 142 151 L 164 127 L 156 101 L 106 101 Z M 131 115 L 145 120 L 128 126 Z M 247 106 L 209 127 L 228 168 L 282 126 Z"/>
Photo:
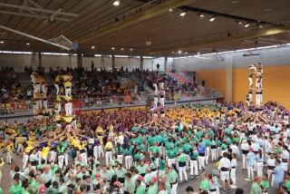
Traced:
<path fill-rule="evenodd" d="M 108 24 L 102 28 L 93 30 L 88 34 L 80 36 L 77 40 L 80 44 L 90 43 L 92 40 L 103 37 L 107 34 L 112 34 L 120 31 L 121 28 L 131 26 L 133 24 L 140 24 L 140 22 L 161 15 L 165 12 L 169 12 L 169 9 L 175 9 L 182 5 L 188 5 L 197 0 L 164 0 L 158 5 L 153 5 L 148 9 L 140 10 L 134 15 L 130 15 L 121 19 L 118 22 Z"/>

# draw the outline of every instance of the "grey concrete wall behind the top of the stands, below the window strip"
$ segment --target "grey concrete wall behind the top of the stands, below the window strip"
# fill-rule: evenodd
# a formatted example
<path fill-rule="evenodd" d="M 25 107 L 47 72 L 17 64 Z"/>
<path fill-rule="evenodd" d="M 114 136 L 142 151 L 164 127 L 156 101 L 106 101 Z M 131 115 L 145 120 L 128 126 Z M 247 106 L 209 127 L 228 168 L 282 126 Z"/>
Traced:
<path fill-rule="evenodd" d="M 82 56 L 82 66 L 84 68 L 91 69 L 91 63 L 97 69 L 105 66 L 106 68 L 111 68 L 111 57 L 105 56 L 102 62 L 102 57 L 83 57 Z M 143 69 L 156 70 L 156 64 L 160 63 L 160 70 L 164 71 L 164 57 L 160 58 L 143 58 Z M 0 66 L 14 67 L 17 73 L 24 73 L 25 66 L 33 66 L 34 70 L 38 66 L 38 54 L 20 54 L 20 53 L 0 53 Z M 173 63 L 173 58 L 168 59 L 168 69 L 171 69 Z M 134 68 L 140 67 L 140 57 L 115 57 L 115 67 L 118 69 L 128 68 L 130 71 Z M 42 55 L 42 66 L 45 72 L 49 72 L 49 68 L 56 68 L 57 66 L 66 68 L 77 67 L 77 56 L 66 56 L 66 55 Z"/>

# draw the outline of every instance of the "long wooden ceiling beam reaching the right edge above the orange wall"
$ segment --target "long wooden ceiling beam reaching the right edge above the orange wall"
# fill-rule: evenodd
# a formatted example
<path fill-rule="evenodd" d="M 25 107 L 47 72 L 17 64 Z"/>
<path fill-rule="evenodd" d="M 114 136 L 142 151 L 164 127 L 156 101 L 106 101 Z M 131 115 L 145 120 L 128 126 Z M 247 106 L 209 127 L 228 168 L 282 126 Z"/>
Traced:
<path fill-rule="evenodd" d="M 243 41 L 245 39 L 249 38 L 257 38 L 261 36 L 266 35 L 274 35 L 274 34 L 281 34 L 289 32 L 290 27 L 275 27 L 275 28 L 269 28 L 269 29 L 259 29 L 255 28 L 253 31 L 243 34 L 231 34 L 230 36 L 220 36 L 213 39 L 199 39 L 197 41 L 191 41 L 189 44 L 179 44 L 179 45 L 172 45 L 167 47 L 160 47 L 160 48 L 153 48 L 150 51 L 150 54 L 160 54 L 160 53 L 169 53 L 172 51 L 177 51 L 180 49 L 191 49 L 191 48 L 200 48 L 201 46 L 207 46 L 212 44 L 225 44 L 229 42 L 236 42 L 236 41 Z"/>

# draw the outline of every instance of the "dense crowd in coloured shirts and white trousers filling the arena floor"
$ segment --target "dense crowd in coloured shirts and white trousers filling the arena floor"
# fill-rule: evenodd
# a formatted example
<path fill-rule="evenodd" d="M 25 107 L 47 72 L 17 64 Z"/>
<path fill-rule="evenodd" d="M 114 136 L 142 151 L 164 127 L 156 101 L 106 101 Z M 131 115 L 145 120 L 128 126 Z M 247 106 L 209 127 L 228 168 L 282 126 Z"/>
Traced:
<path fill-rule="evenodd" d="M 189 193 L 243 193 L 237 169 L 247 170 L 251 194 L 290 191 L 288 111 L 276 102 L 186 104 L 160 118 L 124 109 L 76 119 L 72 131 L 53 118 L 1 123 L 0 167 L 12 165 L 9 193 L 174 194 L 193 179 L 200 185 Z M 205 170 L 211 162 L 217 168 Z"/>

